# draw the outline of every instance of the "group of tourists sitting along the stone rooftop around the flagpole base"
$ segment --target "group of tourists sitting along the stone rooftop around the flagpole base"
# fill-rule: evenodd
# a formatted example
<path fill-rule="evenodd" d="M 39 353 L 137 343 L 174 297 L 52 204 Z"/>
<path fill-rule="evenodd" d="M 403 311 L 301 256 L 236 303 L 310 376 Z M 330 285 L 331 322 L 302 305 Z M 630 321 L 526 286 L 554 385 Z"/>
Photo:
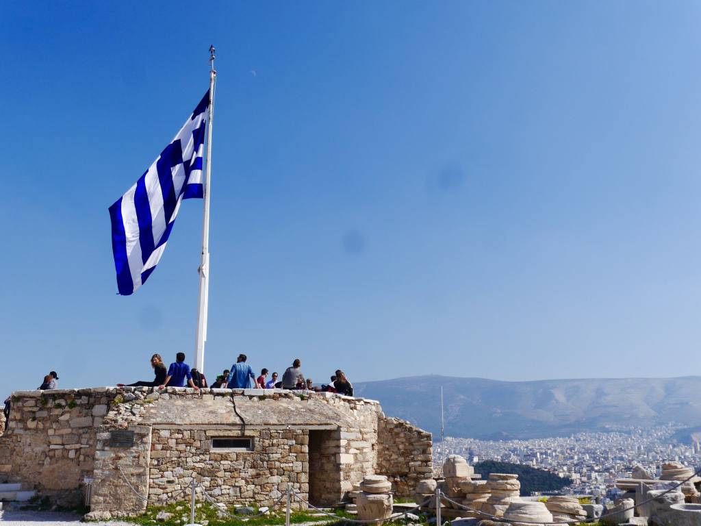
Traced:
<path fill-rule="evenodd" d="M 304 378 L 301 372 L 301 360 L 296 358 L 290 367 L 283 373 L 283 378 L 278 380 L 278 373 L 273 372 L 268 380 L 268 369 L 261 370 L 259 376 L 254 375 L 253 369 L 246 363 L 247 356 L 239 354 L 236 363 L 231 365 L 231 369 L 225 369 L 222 375 L 217 376 L 217 381 L 211 387 L 214 389 L 295 389 L 300 391 L 326 391 L 340 393 L 346 396 L 353 396 L 353 384 L 348 382 L 343 371 L 336 370 L 332 375 L 329 384 L 314 386 L 311 378 Z M 194 387 L 203 389 L 210 387 L 202 372 L 191 369 L 185 363 L 185 353 L 177 353 L 175 362 L 165 368 L 163 358 L 160 354 L 151 356 L 151 367 L 154 368 L 156 377 L 153 382 L 135 382 L 133 384 L 117 384 L 118 387 L 125 385 L 130 387 L 158 387 L 164 389 L 168 387 Z M 57 378 L 56 378 L 57 379 Z"/>

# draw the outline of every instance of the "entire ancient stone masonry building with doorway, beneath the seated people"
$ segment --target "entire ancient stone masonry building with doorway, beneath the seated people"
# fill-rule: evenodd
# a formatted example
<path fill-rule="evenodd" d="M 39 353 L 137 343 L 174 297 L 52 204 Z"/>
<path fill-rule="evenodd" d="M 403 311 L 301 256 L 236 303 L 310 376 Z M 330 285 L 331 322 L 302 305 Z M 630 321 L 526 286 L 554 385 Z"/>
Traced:
<path fill-rule="evenodd" d="M 430 473 L 430 434 L 374 400 L 283 390 L 102 388 L 15 393 L 0 473 L 77 504 L 90 518 L 184 500 L 192 480 L 217 502 L 336 504 L 368 476 L 410 494 Z M 409 487 L 411 484 L 411 487 Z M 401 493 L 404 492 L 404 493 Z"/>

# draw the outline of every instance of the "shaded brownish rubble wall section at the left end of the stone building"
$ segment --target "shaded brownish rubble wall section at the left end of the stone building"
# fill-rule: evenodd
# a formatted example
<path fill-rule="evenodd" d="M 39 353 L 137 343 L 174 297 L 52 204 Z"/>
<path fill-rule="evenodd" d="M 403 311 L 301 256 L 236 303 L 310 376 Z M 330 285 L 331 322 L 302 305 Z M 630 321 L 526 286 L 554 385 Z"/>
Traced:
<path fill-rule="evenodd" d="M 83 481 L 93 476 L 95 429 L 112 396 L 107 389 L 15 393 L 0 437 L 0 473 L 59 504 L 79 504 Z"/>

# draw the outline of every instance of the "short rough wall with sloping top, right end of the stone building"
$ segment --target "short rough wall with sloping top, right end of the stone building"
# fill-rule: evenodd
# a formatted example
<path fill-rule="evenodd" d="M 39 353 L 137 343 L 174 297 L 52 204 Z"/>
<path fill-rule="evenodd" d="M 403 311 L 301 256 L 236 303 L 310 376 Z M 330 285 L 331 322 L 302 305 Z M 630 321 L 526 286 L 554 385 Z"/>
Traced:
<path fill-rule="evenodd" d="M 382 415 L 377 448 L 377 473 L 388 476 L 399 497 L 413 496 L 418 481 L 433 473 L 431 433 L 409 422 Z"/>

